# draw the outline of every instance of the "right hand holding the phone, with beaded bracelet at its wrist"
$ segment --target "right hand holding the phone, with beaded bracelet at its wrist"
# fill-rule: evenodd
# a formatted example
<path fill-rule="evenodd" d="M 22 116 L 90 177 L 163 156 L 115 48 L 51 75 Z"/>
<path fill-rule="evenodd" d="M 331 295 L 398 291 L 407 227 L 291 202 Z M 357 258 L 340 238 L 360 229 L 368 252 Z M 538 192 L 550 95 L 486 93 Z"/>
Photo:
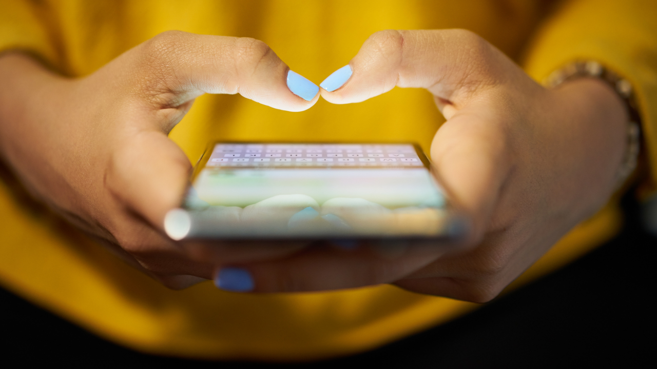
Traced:
<path fill-rule="evenodd" d="M 321 84 L 332 90 L 322 89 L 323 98 L 361 102 L 395 86 L 434 95 L 447 121 L 432 143 L 432 160 L 472 219 L 470 237 L 452 252 L 428 244 L 397 245 L 392 254 L 380 246 L 327 247 L 244 263 L 256 292 L 395 283 L 488 301 L 614 191 L 627 116 L 600 81 L 545 89 L 463 30 L 378 32 L 349 66 L 346 83 L 336 83 L 337 76 Z"/>

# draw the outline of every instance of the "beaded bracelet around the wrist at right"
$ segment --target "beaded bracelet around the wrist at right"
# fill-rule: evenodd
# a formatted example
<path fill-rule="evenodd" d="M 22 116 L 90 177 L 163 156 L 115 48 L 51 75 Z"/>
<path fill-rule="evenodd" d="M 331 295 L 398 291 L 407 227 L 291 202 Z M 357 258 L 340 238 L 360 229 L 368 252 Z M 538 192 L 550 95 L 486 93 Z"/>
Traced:
<path fill-rule="evenodd" d="M 543 81 L 543 85 L 549 88 L 555 88 L 565 81 L 570 81 L 578 77 L 594 77 L 606 82 L 616 91 L 627 108 L 627 113 L 629 114 L 627 148 L 625 149 L 621 167 L 618 169 L 618 173 L 616 173 L 616 189 L 618 189 L 637 167 L 639 150 L 641 149 L 641 116 L 637 109 L 632 85 L 627 79 L 604 68 L 602 64 L 595 60 L 580 60 L 567 64 L 564 68 L 555 70 L 555 72 L 550 74 Z"/>

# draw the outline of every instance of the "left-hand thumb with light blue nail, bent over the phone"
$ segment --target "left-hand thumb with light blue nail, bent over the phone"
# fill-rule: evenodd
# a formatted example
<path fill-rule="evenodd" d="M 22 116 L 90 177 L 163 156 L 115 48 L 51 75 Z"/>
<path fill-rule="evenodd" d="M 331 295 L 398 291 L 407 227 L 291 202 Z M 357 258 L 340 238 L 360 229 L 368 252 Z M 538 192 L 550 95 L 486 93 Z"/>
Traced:
<path fill-rule="evenodd" d="M 141 97 L 157 107 L 183 104 L 203 93 L 235 94 L 298 112 L 317 101 L 319 87 L 292 72 L 260 40 L 168 31 L 126 53 L 142 81 Z M 135 78 L 127 78 L 134 83 Z"/>

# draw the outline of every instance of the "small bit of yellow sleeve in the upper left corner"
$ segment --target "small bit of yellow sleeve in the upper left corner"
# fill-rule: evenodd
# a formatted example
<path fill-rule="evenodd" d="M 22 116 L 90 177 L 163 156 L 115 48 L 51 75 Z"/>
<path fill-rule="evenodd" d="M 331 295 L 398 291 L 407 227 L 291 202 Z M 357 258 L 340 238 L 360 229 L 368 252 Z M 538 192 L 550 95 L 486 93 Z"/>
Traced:
<path fill-rule="evenodd" d="M 0 12 L 0 53 L 21 50 L 33 54 L 47 64 L 55 64 L 57 47 L 44 15 L 45 3 L 26 0 L 4 0 Z"/>

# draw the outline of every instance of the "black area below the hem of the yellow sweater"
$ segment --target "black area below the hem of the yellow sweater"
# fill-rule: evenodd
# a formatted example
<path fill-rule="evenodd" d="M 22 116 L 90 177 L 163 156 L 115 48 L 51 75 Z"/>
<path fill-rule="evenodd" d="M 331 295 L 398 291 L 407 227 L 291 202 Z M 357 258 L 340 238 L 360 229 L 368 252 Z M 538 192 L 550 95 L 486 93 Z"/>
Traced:
<path fill-rule="evenodd" d="M 630 196 L 623 209 L 622 234 L 560 271 L 470 315 L 354 357 L 304 364 L 153 357 L 104 341 L 0 290 L 0 366 L 654 367 L 657 238 L 641 227 L 639 206 Z"/>

